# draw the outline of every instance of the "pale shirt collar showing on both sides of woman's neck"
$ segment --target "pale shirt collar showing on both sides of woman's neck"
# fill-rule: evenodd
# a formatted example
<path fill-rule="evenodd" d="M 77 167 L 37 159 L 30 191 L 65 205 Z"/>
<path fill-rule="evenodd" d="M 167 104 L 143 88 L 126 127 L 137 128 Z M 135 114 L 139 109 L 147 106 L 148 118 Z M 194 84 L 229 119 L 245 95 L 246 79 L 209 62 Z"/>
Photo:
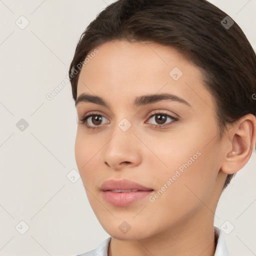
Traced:
<path fill-rule="evenodd" d="M 214 231 L 217 235 L 217 244 L 214 256 L 229 256 L 224 233 L 216 226 L 214 226 Z M 98 247 L 94 250 L 76 255 L 76 256 L 107 256 L 107 250 L 110 243 L 111 237 L 106 238 L 101 242 Z"/>

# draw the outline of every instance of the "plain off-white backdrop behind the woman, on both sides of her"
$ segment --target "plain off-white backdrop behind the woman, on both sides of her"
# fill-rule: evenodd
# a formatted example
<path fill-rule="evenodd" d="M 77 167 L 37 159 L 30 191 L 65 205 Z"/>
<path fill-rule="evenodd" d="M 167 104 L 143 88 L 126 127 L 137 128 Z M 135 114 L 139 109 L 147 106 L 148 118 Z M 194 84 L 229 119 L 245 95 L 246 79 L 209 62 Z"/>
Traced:
<path fill-rule="evenodd" d="M 68 75 L 77 40 L 108 0 L 0 0 L 0 255 L 76 255 L 109 235 L 74 157 Z M 211 0 L 256 48 L 256 0 Z M 21 17 L 22 16 L 22 17 Z M 29 23 L 28 23 L 29 22 Z M 219 200 L 215 225 L 232 256 L 256 255 L 256 153 Z M 22 234 L 23 233 L 23 234 Z"/>

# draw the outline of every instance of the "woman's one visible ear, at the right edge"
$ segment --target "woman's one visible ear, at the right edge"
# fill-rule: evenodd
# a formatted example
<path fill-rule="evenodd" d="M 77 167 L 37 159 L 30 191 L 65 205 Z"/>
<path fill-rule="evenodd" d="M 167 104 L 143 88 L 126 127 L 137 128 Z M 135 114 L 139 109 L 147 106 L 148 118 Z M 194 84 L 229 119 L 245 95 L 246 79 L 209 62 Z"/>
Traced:
<path fill-rule="evenodd" d="M 227 132 L 227 149 L 221 170 L 232 174 L 248 162 L 253 150 L 255 152 L 256 117 L 253 114 L 242 116 Z"/>

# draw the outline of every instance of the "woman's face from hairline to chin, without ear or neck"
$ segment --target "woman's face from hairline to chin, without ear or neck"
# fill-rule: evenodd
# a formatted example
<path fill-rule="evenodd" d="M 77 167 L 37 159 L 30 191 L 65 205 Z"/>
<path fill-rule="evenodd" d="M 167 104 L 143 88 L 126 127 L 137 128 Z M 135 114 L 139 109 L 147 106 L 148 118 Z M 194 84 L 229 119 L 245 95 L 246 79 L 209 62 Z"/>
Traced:
<path fill-rule="evenodd" d="M 198 67 L 152 42 L 110 41 L 97 50 L 78 79 L 75 159 L 102 227 L 142 239 L 213 219 L 223 147 Z M 124 179 L 147 191 L 100 189 Z"/>

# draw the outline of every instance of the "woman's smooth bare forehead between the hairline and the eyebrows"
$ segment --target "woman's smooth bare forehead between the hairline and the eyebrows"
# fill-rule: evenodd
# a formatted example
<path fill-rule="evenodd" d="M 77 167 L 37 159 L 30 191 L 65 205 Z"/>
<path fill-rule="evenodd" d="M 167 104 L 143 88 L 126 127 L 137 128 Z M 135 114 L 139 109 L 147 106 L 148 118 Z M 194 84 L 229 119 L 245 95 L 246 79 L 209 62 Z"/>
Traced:
<path fill-rule="evenodd" d="M 198 106 L 205 104 L 203 98 L 213 105 L 200 69 L 172 47 L 118 40 L 96 48 L 98 53 L 81 69 L 77 95 L 115 95 L 122 103 L 123 98 L 131 102 L 138 95 L 167 92 Z"/>

